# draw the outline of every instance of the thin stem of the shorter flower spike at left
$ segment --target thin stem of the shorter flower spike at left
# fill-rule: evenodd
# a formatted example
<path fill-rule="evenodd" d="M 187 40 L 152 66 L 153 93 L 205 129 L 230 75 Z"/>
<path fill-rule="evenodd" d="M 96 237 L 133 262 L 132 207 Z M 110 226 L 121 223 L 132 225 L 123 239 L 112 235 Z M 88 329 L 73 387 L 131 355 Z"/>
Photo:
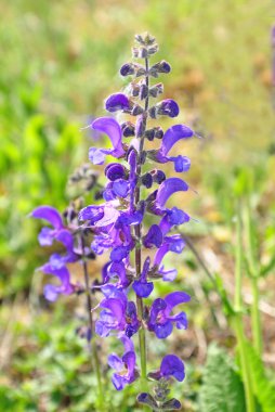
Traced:
<path fill-rule="evenodd" d="M 103 394 L 102 376 L 101 376 L 101 363 L 100 363 L 100 359 L 99 359 L 99 355 L 97 355 L 96 343 L 94 339 L 94 323 L 93 323 L 93 317 L 92 317 L 92 297 L 91 297 L 91 289 L 90 289 L 88 265 L 87 265 L 87 259 L 84 256 L 83 234 L 81 234 L 81 236 L 80 236 L 80 243 L 81 243 L 81 249 L 82 249 L 82 266 L 83 266 L 83 274 L 84 274 L 86 298 L 87 298 L 86 307 L 87 307 L 87 312 L 88 312 L 89 327 L 90 327 L 91 334 L 92 334 L 92 337 L 89 340 L 89 343 L 90 343 L 90 349 L 91 349 L 91 356 L 92 356 L 92 363 L 94 365 L 96 381 L 97 381 L 99 409 L 100 409 L 100 411 L 104 411 L 104 394 Z"/>

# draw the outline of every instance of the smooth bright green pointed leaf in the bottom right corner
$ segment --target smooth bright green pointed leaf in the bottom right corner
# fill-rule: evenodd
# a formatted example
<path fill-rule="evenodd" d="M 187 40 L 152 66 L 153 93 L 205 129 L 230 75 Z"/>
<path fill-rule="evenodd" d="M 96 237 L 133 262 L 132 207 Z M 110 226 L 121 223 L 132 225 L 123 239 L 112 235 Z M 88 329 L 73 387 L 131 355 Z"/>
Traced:
<path fill-rule="evenodd" d="M 264 364 L 249 343 L 246 343 L 246 350 L 249 355 L 253 391 L 261 405 L 261 411 L 274 412 L 275 385 L 266 377 Z"/>

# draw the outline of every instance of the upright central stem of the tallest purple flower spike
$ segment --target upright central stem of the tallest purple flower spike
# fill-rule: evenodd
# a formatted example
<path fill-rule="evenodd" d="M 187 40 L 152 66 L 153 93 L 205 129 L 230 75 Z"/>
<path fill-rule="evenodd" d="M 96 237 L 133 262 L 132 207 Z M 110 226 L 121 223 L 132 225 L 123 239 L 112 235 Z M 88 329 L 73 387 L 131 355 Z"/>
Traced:
<path fill-rule="evenodd" d="M 146 86 L 149 85 L 149 78 L 148 78 L 148 59 L 145 59 L 145 67 L 146 67 Z M 149 98 L 147 96 L 145 99 L 145 107 L 144 110 L 147 111 L 149 105 Z M 146 129 L 146 119 L 145 119 L 145 128 Z M 136 167 L 136 173 L 138 179 L 141 177 L 142 173 L 142 153 L 143 153 L 143 146 L 144 146 L 144 134 L 141 138 L 139 153 L 138 153 L 138 167 Z M 135 191 L 135 206 L 139 205 L 141 197 L 141 190 L 140 186 L 136 186 Z M 141 233 L 142 233 L 142 223 L 136 224 L 134 228 L 134 234 L 138 239 L 138 244 L 135 245 L 135 274 L 136 278 L 141 275 L 141 267 L 142 267 L 142 250 L 141 250 Z M 142 322 L 142 326 L 139 330 L 139 340 L 140 340 L 140 353 L 141 353 L 141 376 L 142 381 L 145 384 L 147 371 L 146 371 L 146 331 L 143 323 L 143 316 L 144 316 L 144 308 L 143 308 L 143 299 L 139 296 L 136 296 L 136 308 L 138 308 L 138 316 L 140 321 Z"/>

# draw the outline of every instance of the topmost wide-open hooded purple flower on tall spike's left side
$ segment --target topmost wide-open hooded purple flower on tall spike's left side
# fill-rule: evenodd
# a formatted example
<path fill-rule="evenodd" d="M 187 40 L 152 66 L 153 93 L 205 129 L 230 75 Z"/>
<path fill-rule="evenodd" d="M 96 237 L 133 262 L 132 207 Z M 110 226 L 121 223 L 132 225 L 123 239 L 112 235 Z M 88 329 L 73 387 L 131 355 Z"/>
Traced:
<path fill-rule="evenodd" d="M 115 120 L 113 117 L 100 117 L 92 123 L 91 128 L 93 130 L 106 133 L 113 144 L 113 149 L 90 147 L 89 159 L 94 165 L 103 165 L 106 155 L 112 155 L 117 158 L 125 155 L 122 145 L 122 132 L 117 120 Z"/>

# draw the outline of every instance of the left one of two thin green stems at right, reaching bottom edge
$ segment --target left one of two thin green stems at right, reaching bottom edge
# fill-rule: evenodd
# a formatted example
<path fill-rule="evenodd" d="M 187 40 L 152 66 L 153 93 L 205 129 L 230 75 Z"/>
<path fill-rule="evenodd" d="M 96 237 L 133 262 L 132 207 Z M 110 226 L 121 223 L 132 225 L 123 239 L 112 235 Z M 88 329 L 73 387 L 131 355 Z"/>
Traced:
<path fill-rule="evenodd" d="M 240 207 L 237 208 L 237 243 L 235 249 L 235 317 L 233 326 L 236 333 L 237 347 L 240 357 L 241 376 L 245 387 L 247 412 L 256 412 L 252 381 L 249 368 L 249 359 L 246 350 L 246 337 L 243 323 L 243 298 L 241 298 L 241 278 L 243 278 L 243 244 L 241 244 L 241 220 Z"/>

